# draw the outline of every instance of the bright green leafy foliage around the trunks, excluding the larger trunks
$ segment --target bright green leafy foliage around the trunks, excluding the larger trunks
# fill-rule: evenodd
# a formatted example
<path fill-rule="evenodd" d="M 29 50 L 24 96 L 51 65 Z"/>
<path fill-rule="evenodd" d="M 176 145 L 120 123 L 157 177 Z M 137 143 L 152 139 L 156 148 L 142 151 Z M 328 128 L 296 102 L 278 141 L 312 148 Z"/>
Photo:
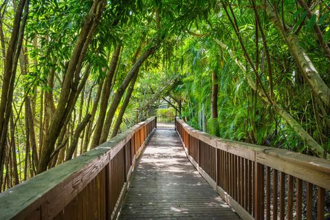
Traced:
<path fill-rule="evenodd" d="M 2 72 L 5 57 L 3 51 L 10 41 L 14 20 L 13 4 L 16 2 L 8 1 L 1 8 Z M 40 150 L 61 98 L 63 80 L 74 46 L 92 3 L 91 0 L 30 1 L 23 50 L 17 69 L 19 74 L 16 74 L 14 82 L 12 117 L 15 136 L 8 137 L 17 146 L 21 179 L 24 179 L 25 159 L 29 159 L 26 165 L 31 171 L 25 177 L 34 175 L 34 166 L 30 162 L 32 153 L 26 151 L 30 148 L 30 134 L 27 132 L 25 102 L 29 98 L 36 147 Z M 219 131 L 220 137 L 232 140 L 311 154 L 305 140 L 276 113 L 274 104 L 261 100 L 253 91 L 247 80 L 251 78 L 266 94 L 274 94 L 272 100 L 289 113 L 316 142 L 329 149 L 329 106 L 322 104 L 307 85 L 288 43 L 267 16 L 264 1 L 255 3 L 269 57 L 266 55 L 261 28 L 256 25 L 252 1 L 107 1 L 98 28 L 91 36 L 86 54 L 83 54 L 82 69 L 75 76 L 77 81 L 74 83 L 78 85 L 84 76 L 87 76 L 87 81 L 79 97 L 70 100 L 74 102 L 74 109 L 65 127 L 65 137 L 69 137 L 69 142 L 72 142 L 77 125 L 84 115 L 92 112 L 98 98 L 98 87 L 106 79 L 111 56 L 116 45 L 120 44 L 122 49 L 111 84 L 108 109 L 136 59 L 156 46 L 153 55 L 139 69 L 120 131 L 146 118 L 148 107 L 168 98 L 176 106 L 182 104 L 181 118 L 196 129 L 209 133 Z M 314 25 L 318 25 L 325 43 L 329 44 L 330 4 L 327 1 L 311 1 L 312 15 L 309 18 L 306 10 L 294 0 L 284 1 L 283 5 L 280 1 L 272 3 L 289 33 L 298 36 L 299 45 L 329 86 L 330 61 L 320 45 Z M 228 9 L 229 17 L 224 6 Z M 237 25 L 237 33 L 233 23 Z M 241 41 L 236 34 L 239 34 Z M 216 40 L 227 48 L 219 45 Z M 271 74 L 268 72 L 267 58 L 270 58 Z M 217 74 L 219 86 L 217 119 L 211 118 L 213 72 Z M 123 98 L 113 122 L 118 118 L 122 102 Z M 94 120 L 89 124 L 91 131 L 100 113 L 98 103 Z M 163 113 L 166 115 L 168 112 L 164 110 Z M 78 151 L 86 150 L 86 141 L 89 146 L 89 140 L 84 136 L 86 134 L 85 130 L 80 135 Z M 58 146 L 61 143 L 56 144 Z"/>

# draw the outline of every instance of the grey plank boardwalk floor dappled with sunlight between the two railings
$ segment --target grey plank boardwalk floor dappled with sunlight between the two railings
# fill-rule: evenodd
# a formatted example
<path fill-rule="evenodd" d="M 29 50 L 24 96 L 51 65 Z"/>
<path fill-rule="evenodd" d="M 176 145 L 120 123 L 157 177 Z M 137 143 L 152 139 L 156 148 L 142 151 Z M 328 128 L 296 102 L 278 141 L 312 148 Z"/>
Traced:
<path fill-rule="evenodd" d="M 239 219 L 190 164 L 174 130 L 156 130 L 137 161 L 119 219 Z"/>

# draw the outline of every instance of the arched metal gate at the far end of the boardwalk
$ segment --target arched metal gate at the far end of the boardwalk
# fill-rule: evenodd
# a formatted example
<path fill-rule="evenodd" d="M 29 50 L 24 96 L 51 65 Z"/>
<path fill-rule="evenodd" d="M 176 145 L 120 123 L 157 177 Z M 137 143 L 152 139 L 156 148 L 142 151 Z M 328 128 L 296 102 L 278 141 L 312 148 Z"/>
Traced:
<path fill-rule="evenodd" d="M 155 111 L 157 129 L 175 129 L 175 117 L 177 117 L 175 108 L 170 104 L 160 104 Z"/>

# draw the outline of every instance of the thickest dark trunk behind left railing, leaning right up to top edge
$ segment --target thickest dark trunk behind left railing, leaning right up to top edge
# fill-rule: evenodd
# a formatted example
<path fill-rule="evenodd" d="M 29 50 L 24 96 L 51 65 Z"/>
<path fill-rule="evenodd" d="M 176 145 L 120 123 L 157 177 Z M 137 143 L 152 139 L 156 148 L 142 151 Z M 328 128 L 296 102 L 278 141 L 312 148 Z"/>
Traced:
<path fill-rule="evenodd" d="M 52 152 L 54 151 L 54 145 L 58 134 L 61 132 L 65 119 L 70 116 L 69 111 L 76 95 L 74 94 L 74 91 L 78 86 L 78 78 L 82 67 L 83 58 L 87 52 L 87 47 L 91 41 L 91 37 L 94 35 L 94 32 L 98 26 L 105 3 L 105 0 L 94 0 L 93 5 L 91 5 L 91 10 L 89 10 L 89 14 L 87 14 L 83 24 L 83 28 L 80 30 L 80 34 L 76 45 L 74 46 L 67 71 L 65 73 L 61 96 L 58 100 L 58 106 L 47 132 L 45 146 L 43 148 L 43 152 L 41 153 L 38 173 L 41 173 L 47 169 L 47 165 L 50 162 L 50 155 L 52 155 Z"/>

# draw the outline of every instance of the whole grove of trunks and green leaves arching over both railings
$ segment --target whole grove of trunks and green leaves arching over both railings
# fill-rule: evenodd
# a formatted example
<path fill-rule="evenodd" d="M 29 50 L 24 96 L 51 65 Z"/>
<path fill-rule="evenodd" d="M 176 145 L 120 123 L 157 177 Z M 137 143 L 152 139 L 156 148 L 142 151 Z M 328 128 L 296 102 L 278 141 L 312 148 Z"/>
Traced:
<path fill-rule="evenodd" d="M 1 191 L 157 100 L 219 137 L 329 159 L 330 3 L 2 0 Z"/>

